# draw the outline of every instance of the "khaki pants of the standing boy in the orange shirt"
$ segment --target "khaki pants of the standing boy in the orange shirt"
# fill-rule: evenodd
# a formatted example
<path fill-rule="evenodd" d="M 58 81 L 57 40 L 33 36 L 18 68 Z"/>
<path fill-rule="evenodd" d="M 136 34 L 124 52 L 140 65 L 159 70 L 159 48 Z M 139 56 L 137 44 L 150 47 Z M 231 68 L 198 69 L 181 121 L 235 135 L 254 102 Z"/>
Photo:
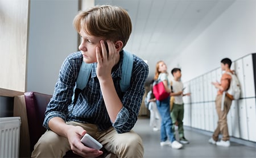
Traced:
<path fill-rule="evenodd" d="M 218 140 L 219 134 L 222 134 L 222 140 L 224 141 L 229 140 L 229 130 L 228 130 L 228 123 L 227 123 L 226 117 L 229 113 L 232 100 L 229 99 L 227 96 L 225 96 L 223 111 L 221 111 L 221 100 L 222 100 L 222 95 L 217 95 L 215 103 L 216 103 L 216 111 L 218 114 L 218 126 L 215 129 L 212 136 L 214 141 Z"/>

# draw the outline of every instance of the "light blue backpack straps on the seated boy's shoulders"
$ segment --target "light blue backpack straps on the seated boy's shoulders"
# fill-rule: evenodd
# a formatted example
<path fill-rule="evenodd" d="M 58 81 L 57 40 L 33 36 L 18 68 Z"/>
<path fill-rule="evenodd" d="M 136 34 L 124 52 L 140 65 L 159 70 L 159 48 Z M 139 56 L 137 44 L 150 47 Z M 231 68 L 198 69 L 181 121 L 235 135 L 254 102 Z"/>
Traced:
<path fill-rule="evenodd" d="M 77 98 L 81 90 L 83 90 L 88 82 L 88 78 L 90 76 L 90 72 L 92 70 L 92 64 L 87 64 L 82 61 L 81 68 L 79 70 L 79 75 L 76 80 L 76 88 L 73 99 L 73 105 L 76 104 Z M 123 50 L 123 63 L 122 63 L 122 77 L 120 81 L 120 88 L 122 92 L 125 92 L 129 86 L 131 81 L 131 72 L 133 70 L 133 54 Z"/>

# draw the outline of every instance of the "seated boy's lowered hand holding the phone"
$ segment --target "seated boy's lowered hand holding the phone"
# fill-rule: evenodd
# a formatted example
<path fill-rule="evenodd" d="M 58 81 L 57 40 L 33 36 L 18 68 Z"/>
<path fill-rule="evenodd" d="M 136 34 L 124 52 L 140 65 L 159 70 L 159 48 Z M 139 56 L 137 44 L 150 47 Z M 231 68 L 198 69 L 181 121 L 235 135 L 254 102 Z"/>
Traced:
<path fill-rule="evenodd" d="M 81 138 L 86 134 L 86 131 L 80 126 L 73 126 L 67 131 L 68 142 L 73 153 L 82 157 L 98 157 L 102 155 L 102 151 L 86 147 L 81 143 Z"/>

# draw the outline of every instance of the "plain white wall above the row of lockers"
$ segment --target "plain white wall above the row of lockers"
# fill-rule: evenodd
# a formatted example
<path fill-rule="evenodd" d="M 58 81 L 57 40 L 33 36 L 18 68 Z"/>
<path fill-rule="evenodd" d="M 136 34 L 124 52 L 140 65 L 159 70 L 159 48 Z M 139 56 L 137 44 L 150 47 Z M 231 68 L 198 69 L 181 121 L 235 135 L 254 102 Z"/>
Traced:
<path fill-rule="evenodd" d="M 179 65 L 183 81 L 189 81 L 220 66 L 224 57 L 236 60 L 256 52 L 255 19 L 256 1 L 234 2 L 168 68 Z"/>

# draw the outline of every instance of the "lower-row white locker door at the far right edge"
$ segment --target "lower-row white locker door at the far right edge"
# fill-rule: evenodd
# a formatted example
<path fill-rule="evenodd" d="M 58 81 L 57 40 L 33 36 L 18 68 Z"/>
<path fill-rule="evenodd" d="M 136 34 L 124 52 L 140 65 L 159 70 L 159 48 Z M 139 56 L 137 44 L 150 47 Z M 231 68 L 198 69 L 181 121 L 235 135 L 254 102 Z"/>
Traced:
<path fill-rule="evenodd" d="M 248 138 L 249 140 L 256 142 L 256 103 L 255 98 L 246 99 L 247 110 L 247 123 L 248 123 Z"/>

